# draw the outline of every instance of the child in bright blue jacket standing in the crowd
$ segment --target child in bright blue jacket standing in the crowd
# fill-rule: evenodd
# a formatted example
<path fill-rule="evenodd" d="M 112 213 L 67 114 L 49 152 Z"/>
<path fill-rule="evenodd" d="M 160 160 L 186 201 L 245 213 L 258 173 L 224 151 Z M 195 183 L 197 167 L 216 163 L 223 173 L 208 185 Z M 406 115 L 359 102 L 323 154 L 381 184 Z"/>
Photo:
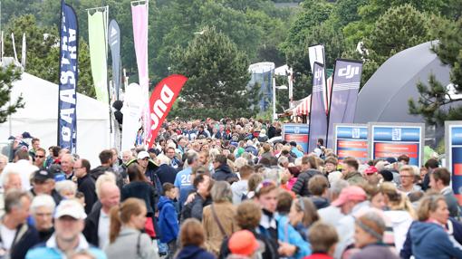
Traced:
<path fill-rule="evenodd" d="M 173 258 L 177 250 L 178 215 L 173 205 L 177 189 L 171 183 L 163 184 L 164 195 L 159 199 L 160 242 L 168 245 L 168 257 Z"/>

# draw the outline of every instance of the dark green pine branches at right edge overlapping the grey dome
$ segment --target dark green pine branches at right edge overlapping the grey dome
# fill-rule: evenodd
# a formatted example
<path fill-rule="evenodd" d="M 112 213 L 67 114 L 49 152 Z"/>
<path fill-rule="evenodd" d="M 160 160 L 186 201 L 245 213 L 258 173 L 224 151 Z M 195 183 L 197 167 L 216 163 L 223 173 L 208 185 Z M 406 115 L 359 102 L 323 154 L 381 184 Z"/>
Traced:
<path fill-rule="evenodd" d="M 450 80 L 456 93 L 462 92 L 462 18 L 457 22 L 439 20 L 434 34 L 439 39 L 433 51 L 441 62 L 451 67 Z M 428 84 L 417 85 L 420 97 L 417 101 L 409 99 L 409 112 L 422 115 L 428 124 L 444 125 L 445 120 L 462 120 L 462 106 L 456 101 L 462 98 L 449 93 L 448 88 L 430 75 Z M 450 106 L 450 108 L 448 108 Z M 445 107 L 445 109 L 443 109 Z"/>

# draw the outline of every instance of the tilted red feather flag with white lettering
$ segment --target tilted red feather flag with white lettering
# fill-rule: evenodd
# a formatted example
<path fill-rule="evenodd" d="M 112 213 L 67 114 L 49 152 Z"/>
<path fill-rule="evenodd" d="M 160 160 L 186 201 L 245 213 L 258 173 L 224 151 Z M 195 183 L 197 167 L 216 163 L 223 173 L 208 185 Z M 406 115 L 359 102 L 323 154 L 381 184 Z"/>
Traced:
<path fill-rule="evenodd" d="M 167 118 L 168 111 L 170 111 L 173 103 L 177 100 L 179 92 L 187 81 L 188 78 L 185 76 L 179 74 L 170 75 L 159 82 L 154 91 L 152 91 L 149 100 L 149 116 L 151 120 L 149 148 L 154 144 L 159 129 L 162 127 L 162 122 Z"/>

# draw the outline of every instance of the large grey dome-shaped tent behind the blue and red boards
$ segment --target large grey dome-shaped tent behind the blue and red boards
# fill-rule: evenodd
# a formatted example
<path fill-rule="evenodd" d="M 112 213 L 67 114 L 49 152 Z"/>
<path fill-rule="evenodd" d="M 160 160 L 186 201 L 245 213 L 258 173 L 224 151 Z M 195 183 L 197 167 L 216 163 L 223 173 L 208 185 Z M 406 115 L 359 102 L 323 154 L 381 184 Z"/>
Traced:
<path fill-rule="evenodd" d="M 408 101 L 418 100 L 418 82 L 428 82 L 431 73 L 443 85 L 449 84 L 448 66 L 431 52 L 437 41 L 422 43 L 390 57 L 362 87 L 354 122 L 425 122 L 409 114 Z"/>

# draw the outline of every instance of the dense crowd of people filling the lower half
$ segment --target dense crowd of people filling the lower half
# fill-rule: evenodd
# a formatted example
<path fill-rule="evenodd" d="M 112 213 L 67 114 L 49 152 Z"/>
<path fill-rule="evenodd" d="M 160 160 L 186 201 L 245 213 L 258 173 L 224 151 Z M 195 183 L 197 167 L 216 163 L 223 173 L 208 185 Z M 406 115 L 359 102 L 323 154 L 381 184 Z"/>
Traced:
<path fill-rule="evenodd" d="M 281 126 L 172 120 L 100 165 L 24 132 L 0 155 L 0 258 L 462 258 L 438 158 L 305 153 Z"/>

